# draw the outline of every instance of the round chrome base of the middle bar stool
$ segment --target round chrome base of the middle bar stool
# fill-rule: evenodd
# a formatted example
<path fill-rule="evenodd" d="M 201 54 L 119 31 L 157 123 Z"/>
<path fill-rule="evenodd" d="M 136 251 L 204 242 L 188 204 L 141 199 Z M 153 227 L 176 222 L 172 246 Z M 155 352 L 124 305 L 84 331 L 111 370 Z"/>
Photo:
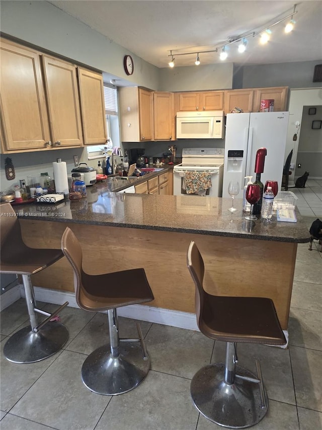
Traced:
<path fill-rule="evenodd" d="M 93 351 L 82 366 L 82 380 L 94 393 L 113 396 L 137 387 L 150 368 L 148 356 L 143 358 L 139 343 L 119 345 L 119 356 L 113 357 L 110 345 Z"/>

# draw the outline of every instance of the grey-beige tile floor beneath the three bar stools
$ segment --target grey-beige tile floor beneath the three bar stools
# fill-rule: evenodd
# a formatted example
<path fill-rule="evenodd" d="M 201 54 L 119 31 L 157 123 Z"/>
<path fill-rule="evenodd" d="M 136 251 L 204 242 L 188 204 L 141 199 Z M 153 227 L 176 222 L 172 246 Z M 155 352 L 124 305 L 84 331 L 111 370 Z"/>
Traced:
<path fill-rule="evenodd" d="M 292 189 L 309 227 L 322 217 L 322 181 Z M 311 211 L 311 212 L 310 212 Z M 306 213 L 305 213 L 306 212 Z M 47 311 L 48 303 L 38 303 Z M 224 360 L 221 342 L 199 332 L 141 322 L 151 358 L 143 383 L 120 396 L 101 396 L 81 381 L 86 356 L 108 336 L 107 316 L 65 308 L 69 340 L 53 357 L 14 364 L 1 356 L 2 430 L 215 430 L 193 406 L 190 381 L 203 365 Z M 23 299 L 1 313 L 1 350 L 28 324 Z M 135 336 L 133 320 L 120 318 L 121 336 Z M 255 372 L 261 359 L 269 410 L 257 430 L 322 429 L 322 253 L 314 241 L 298 245 L 289 320 L 289 348 L 239 344 L 239 364 Z M 107 340 L 107 339 L 106 339 Z"/>

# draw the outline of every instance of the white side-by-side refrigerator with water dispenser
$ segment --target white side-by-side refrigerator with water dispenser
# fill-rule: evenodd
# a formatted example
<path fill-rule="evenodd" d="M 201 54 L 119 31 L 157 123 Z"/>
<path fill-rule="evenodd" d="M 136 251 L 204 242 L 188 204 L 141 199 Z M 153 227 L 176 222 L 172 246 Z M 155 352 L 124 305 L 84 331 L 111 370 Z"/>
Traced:
<path fill-rule="evenodd" d="M 243 198 L 245 176 L 256 179 L 255 158 L 259 148 L 266 148 L 261 181 L 277 180 L 281 190 L 289 112 L 228 113 L 222 197 L 229 197 L 228 184 L 237 180 Z"/>

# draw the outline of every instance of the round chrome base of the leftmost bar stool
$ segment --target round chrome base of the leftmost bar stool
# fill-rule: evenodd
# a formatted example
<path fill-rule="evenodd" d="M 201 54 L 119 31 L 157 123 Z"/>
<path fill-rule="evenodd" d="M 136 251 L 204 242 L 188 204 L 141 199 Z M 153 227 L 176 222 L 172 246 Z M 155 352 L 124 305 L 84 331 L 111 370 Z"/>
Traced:
<path fill-rule="evenodd" d="M 5 357 L 14 363 L 34 363 L 55 354 L 68 340 L 67 328 L 57 322 L 49 322 L 37 333 L 31 326 L 13 334 L 4 346 Z"/>

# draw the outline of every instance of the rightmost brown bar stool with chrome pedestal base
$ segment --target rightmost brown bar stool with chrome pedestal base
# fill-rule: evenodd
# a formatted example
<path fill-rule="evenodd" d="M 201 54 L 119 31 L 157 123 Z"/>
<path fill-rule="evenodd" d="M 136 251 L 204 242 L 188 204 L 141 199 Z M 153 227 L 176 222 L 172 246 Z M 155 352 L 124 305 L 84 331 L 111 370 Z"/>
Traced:
<path fill-rule="evenodd" d="M 202 367 L 193 377 L 193 402 L 206 418 L 224 427 L 255 425 L 268 409 L 260 362 L 256 360 L 257 376 L 236 366 L 236 343 L 286 344 L 274 303 L 264 297 L 207 293 L 203 288 L 204 262 L 194 241 L 188 248 L 187 264 L 196 287 L 198 327 L 205 336 L 226 342 L 225 364 Z"/>

